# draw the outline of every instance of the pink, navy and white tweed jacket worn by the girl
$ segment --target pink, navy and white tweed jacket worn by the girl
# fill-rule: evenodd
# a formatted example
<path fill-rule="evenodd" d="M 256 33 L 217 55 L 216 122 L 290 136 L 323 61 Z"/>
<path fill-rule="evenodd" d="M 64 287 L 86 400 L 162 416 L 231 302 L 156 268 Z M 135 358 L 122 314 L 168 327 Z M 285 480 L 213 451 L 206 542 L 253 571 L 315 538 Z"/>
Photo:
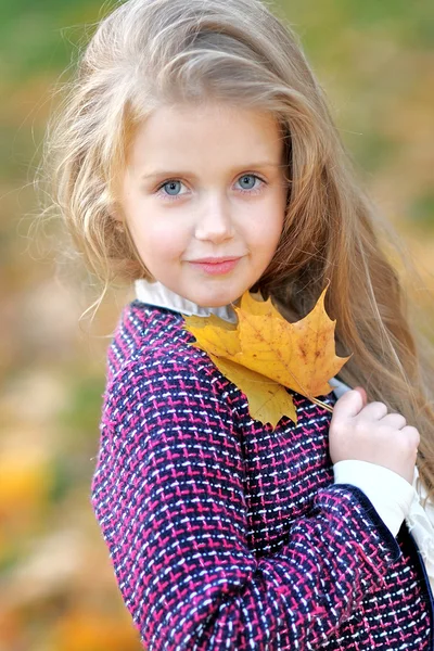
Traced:
<path fill-rule="evenodd" d="M 294 394 L 296 426 L 252 420 L 193 341 L 135 301 L 108 349 L 91 499 L 143 646 L 433 649 L 413 539 L 333 484 L 330 413 Z"/>

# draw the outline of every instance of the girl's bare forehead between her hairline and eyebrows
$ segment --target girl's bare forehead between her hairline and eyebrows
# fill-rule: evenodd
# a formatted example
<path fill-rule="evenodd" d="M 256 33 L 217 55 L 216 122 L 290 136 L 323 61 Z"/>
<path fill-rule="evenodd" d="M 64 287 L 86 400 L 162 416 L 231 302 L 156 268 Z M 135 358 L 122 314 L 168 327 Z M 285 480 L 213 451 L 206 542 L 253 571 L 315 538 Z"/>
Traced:
<path fill-rule="evenodd" d="M 237 166 L 246 161 L 279 163 L 283 138 L 268 112 L 221 103 L 175 104 L 156 108 L 137 129 L 130 148 L 132 165 L 178 162 L 201 165 L 229 157 Z"/>

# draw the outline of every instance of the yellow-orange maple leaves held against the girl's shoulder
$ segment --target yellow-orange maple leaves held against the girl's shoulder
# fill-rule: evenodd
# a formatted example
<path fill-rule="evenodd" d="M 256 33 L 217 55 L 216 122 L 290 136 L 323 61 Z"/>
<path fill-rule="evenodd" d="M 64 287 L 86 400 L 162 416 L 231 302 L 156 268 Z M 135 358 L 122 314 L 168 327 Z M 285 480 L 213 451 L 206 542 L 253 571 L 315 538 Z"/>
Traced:
<path fill-rule="evenodd" d="M 246 396 L 252 418 L 273 427 L 282 416 L 297 422 L 286 388 L 314 403 L 332 387 L 329 380 L 349 357 L 335 355 L 334 329 L 324 308 L 327 288 L 314 309 L 290 323 L 272 305 L 246 291 L 233 306 L 238 323 L 210 317 L 186 317 L 194 346 L 205 350 L 221 373 Z M 286 388 L 285 388 L 286 387 Z"/>

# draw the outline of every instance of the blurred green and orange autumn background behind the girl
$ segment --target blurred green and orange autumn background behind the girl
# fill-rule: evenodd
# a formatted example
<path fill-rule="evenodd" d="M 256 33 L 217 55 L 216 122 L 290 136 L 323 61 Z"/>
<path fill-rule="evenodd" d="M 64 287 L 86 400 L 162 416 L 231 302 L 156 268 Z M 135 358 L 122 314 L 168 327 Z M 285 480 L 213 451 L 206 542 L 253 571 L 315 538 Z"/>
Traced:
<path fill-rule="evenodd" d="M 0 1 L 0 651 L 139 651 L 90 506 L 105 348 L 131 291 L 93 320 L 93 282 L 30 231 L 54 84 L 114 2 Z M 280 0 L 342 138 L 423 284 L 434 271 L 431 0 Z M 430 317 L 430 292 L 418 303 Z M 434 335 L 434 329 L 429 332 Z"/>

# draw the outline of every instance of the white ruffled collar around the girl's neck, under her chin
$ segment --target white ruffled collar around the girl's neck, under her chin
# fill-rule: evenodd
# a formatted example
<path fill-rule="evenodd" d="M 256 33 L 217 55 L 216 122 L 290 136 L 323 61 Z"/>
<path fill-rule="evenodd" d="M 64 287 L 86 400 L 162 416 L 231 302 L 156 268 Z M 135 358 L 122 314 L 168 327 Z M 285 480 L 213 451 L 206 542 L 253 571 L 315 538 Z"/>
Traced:
<path fill-rule="evenodd" d="M 216 317 L 220 317 L 220 319 L 237 323 L 235 310 L 230 305 L 225 305 L 222 307 L 201 307 L 192 301 L 173 292 L 162 282 L 150 282 L 144 278 L 136 280 L 135 289 L 136 296 L 141 303 L 155 305 L 156 307 L 166 307 L 167 309 L 179 311 L 189 317 L 192 315 L 196 315 L 197 317 L 209 317 L 209 315 L 215 315 Z"/>

